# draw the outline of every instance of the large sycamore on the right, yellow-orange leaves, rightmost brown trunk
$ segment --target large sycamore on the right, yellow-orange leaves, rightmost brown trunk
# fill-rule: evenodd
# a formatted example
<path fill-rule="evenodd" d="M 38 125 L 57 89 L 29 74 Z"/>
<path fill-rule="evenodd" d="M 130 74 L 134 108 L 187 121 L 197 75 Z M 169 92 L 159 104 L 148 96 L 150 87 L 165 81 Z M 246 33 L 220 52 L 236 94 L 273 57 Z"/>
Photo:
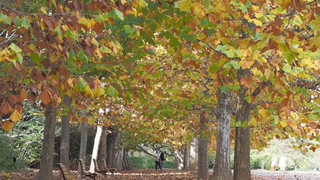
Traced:
<path fill-rule="evenodd" d="M 154 9 L 150 18 L 157 26 L 165 27 L 155 35 L 157 44 L 172 54 L 168 61 L 171 66 L 184 65 L 182 72 L 190 76 L 193 69 L 202 75 L 207 72 L 214 88 L 235 94 L 233 179 L 250 178 L 250 126 L 252 134 L 262 131 L 277 138 L 288 134 L 311 139 L 318 136 L 317 0 L 182 0 L 149 4 Z M 195 57 L 200 58 L 194 59 L 192 49 L 198 50 Z M 203 58 L 208 59 L 205 65 Z M 307 100 L 303 99 L 305 95 Z M 260 122 L 266 126 L 258 125 Z M 267 130 L 272 133 L 264 133 Z M 259 143 L 256 138 L 252 136 L 252 142 Z M 222 170 L 218 175 L 227 173 Z"/>

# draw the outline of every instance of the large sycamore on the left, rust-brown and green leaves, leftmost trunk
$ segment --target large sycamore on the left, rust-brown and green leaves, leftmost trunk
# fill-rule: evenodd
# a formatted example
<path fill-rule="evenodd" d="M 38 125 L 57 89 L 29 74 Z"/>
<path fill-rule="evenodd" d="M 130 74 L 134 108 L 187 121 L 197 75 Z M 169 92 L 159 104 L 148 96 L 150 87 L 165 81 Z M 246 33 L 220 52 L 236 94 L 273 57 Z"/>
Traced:
<path fill-rule="evenodd" d="M 24 99 L 45 108 L 42 163 L 35 178 L 52 179 L 54 121 L 57 113 L 66 115 L 68 108 L 58 108 L 64 96 L 72 99 L 69 119 L 89 124 L 96 123 L 97 109 L 114 107 L 114 97 L 138 98 L 131 97 L 127 92 L 134 89 L 122 87 L 119 79 L 123 84 L 134 79 L 126 72 L 145 53 L 138 48 L 143 41 L 130 43 L 130 38 L 137 35 L 134 24 L 143 23 L 135 8 L 146 3 L 10 2 L 0 2 L 0 115 L 7 118 L 1 128 L 10 131 L 20 119 Z M 126 17 L 129 20 L 122 23 Z M 139 50 L 132 53 L 132 46 Z M 82 110 L 92 113 L 85 117 L 78 113 Z"/>

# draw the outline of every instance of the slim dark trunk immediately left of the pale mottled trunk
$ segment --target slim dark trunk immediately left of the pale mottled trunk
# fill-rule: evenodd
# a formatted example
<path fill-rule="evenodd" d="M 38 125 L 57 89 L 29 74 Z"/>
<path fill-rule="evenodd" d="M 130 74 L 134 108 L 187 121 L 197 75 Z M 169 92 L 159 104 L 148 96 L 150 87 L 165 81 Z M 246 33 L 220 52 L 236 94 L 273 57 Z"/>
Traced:
<path fill-rule="evenodd" d="M 199 149 L 198 149 L 198 179 L 209 178 L 208 167 L 208 142 L 209 137 L 207 135 L 208 127 L 205 125 L 208 123 L 208 117 L 205 117 L 203 113 L 200 114 L 200 130 L 199 135 Z"/>

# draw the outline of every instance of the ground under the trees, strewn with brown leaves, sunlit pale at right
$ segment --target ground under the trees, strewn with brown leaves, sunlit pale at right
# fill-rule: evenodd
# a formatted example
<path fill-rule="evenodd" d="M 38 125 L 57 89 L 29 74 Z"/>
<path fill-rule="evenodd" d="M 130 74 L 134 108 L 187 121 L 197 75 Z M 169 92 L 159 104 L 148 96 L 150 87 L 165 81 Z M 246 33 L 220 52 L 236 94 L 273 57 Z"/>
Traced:
<path fill-rule="evenodd" d="M 53 170 L 54 179 L 59 177 L 59 169 Z M 31 180 L 37 173 L 37 169 L 22 169 L 16 172 L 1 172 L 0 180 Z M 251 170 L 253 180 L 315 180 L 320 179 L 320 172 L 301 172 L 301 171 L 269 171 L 269 170 Z M 71 170 L 72 179 L 80 179 L 76 171 Z M 90 179 L 89 177 L 83 179 Z M 196 180 L 196 175 L 191 172 L 182 172 L 175 169 L 164 169 L 163 172 L 155 171 L 154 169 L 132 169 L 132 170 L 117 170 L 113 175 L 107 173 L 107 177 L 99 174 L 96 180 L 122 180 L 122 179 L 139 179 L 139 180 Z"/>

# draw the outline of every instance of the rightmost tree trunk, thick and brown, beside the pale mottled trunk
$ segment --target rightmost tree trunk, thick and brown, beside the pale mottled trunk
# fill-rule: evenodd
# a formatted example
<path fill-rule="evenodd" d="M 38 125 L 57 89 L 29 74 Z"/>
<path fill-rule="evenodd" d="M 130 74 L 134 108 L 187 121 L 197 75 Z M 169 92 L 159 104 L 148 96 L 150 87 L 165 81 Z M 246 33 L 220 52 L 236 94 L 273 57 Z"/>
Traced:
<path fill-rule="evenodd" d="M 251 104 L 245 99 L 245 89 L 238 90 L 236 96 L 235 119 L 249 121 Z M 251 179 L 250 171 L 250 125 L 235 127 L 233 180 Z"/>

